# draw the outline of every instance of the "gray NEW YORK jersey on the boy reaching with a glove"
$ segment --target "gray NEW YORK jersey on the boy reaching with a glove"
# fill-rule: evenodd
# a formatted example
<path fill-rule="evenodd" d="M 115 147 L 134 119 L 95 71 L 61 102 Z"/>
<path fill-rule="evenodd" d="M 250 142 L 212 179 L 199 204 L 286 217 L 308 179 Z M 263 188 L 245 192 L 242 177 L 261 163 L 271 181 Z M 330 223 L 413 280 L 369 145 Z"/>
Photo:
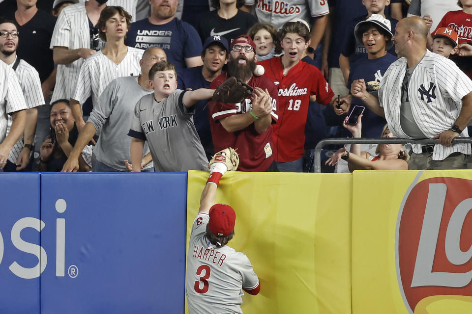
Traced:
<path fill-rule="evenodd" d="M 160 102 L 149 94 L 136 104 L 128 135 L 148 141 L 156 172 L 208 170 L 208 159 L 193 124 L 195 107 L 183 105 L 183 94 L 177 89 Z"/>

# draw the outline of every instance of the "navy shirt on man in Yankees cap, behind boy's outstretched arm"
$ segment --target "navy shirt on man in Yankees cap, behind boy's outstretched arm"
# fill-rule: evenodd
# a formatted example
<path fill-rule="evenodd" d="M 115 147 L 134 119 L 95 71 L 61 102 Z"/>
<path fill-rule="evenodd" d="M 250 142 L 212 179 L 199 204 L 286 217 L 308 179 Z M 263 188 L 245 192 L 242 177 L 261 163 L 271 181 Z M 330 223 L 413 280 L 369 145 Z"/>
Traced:
<path fill-rule="evenodd" d="M 177 73 L 177 88 L 186 90 L 191 88 L 196 90 L 199 88 L 210 88 L 210 83 L 202 75 L 202 66 L 183 69 Z M 193 123 L 197 129 L 200 142 L 207 157 L 214 154 L 213 141 L 211 139 L 210 122 L 208 119 L 207 100 L 201 100 L 195 104 L 195 114 L 193 115 Z M 204 109 L 205 108 L 205 109 Z"/>

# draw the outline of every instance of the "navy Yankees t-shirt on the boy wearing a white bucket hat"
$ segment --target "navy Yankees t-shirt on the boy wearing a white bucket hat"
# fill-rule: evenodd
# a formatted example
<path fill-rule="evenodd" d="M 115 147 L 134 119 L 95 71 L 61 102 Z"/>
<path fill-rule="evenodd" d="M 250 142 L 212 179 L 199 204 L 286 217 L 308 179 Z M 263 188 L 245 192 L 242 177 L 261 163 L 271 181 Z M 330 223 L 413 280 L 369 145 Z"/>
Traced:
<path fill-rule="evenodd" d="M 363 78 L 366 84 L 370 81 L 380 82 L 387 68 L 397 59 L 396 56 L 387 53 L 383 57 L 377 59 L 369 60 L 367 57 L 362 57 L 355 61 L 351 64 L 348 88 L 351 89 L 351 84 L 354 79 Z M 353 97 L 351 109 L 354 108 L 354 105 L 366 107 L 366 105 L 356 97 Z M 364 115 L 362 116 L 362 137 L 380 137 L 383 126 L 386 123 L 387 122 L 383 117 L 378 116 L 366 107 Z"/>

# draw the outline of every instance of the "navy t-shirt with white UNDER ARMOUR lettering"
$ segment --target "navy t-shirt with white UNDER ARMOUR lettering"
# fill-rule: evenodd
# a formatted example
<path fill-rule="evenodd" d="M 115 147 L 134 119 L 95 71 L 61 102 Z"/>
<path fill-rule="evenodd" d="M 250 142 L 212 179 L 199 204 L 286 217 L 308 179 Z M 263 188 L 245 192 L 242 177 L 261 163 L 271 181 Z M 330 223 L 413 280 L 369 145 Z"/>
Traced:
<path fill-rule="evenodd" d="M 164 25 L 153 25 L 148 19 L 136 21 L 131 24 L 124 42 L 134 48 L 162 48 L 177 71 L 187 67 L 185 58 L 199 56 L 202 52 L 202 42 L 195 28 L 177 18 Z"/>

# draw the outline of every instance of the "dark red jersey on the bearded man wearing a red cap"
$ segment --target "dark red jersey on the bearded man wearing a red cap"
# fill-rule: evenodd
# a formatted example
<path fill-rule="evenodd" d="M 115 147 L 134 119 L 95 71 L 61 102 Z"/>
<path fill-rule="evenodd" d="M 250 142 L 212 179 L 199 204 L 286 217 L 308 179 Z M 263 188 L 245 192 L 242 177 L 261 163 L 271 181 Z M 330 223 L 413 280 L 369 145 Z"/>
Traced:
<path fill-rule="evenodd" d="M 210 88 L 217 88 L 222 82 L 229 77 L 229 74 L 222 73 L 215 78 Z M 264 77 L 253 76 L 248 85 L 252 87 L 260 87 L 263 90 L 267 88 L 272 97 L 272 124 L 277 122 L 277 88 L 274 83 Z M 254 123 L 250 124 L 243 130 L 236 132 L 227 132 L 225 128 L 219 123 L 220 119 L 235 115 L 243 114 L 251 110 L 251 99 L 246 98 L 244 102 L 238 104 L 224 104 L 210 101 L 208 103 L 209 120 L 211 128 L 211 136 L 213 138 L 213 145 L 215 152 L 222 149 L 233 147 L 237 148 L 239 154 L 238 170 L 241 171 L 266 171 L 270 164 L 274 161 L 272 153 L 272 125 L 267 130 L 259 134 L 254 128 Z"/>

